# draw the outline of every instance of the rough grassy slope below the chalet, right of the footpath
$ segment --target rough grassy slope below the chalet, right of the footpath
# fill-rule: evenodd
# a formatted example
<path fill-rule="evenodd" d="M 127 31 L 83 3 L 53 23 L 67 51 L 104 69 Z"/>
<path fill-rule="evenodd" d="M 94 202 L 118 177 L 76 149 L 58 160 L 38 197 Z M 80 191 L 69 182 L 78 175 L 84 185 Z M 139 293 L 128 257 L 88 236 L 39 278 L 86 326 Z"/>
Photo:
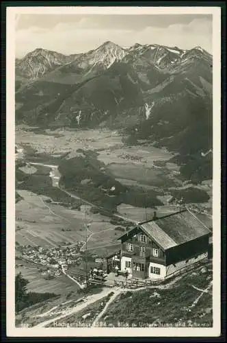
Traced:
<path fill-rule="evenodd" d="M 195 325 L 211 326 L 212 322 L 212 294 L 204 294 L 198 301 L 196 307 L 191 311 L 183 308 L 191 306 L 193 301 L 200 295 L 196 287 L 205 289 L 209 285 L 208 274 L 196 274 L 185 276 L 170 289 L 147 289 L 138 292 L 127 292 L 121 294 L 115 303 L 111 304 L 105 317 L 107 324 L 118 324 L 118 322 L 136 324 L 143 326 L 146 323 L 152 324 L 159 319 L 162 324 L 177 324 L 181 321 Z M 156 291 L 160 297 L 154 297 Z M 187 326 L 187 325 L 186 325 Z"/>

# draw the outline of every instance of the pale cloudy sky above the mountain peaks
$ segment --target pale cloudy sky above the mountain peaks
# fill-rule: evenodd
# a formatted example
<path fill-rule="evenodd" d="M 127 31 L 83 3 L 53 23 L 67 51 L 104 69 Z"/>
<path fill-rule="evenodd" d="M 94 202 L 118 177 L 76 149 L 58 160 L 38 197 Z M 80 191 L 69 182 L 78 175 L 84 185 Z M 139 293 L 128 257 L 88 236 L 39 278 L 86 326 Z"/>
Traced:
<path fill-rule="evenodd" d="M 20 14 L 16 21 L 16 57 L 36 48 L 62 54 L 95 49 L 105 41 L 129 47 L 135 43 L 191 49 L 212 54 L 211 14 Z"/>

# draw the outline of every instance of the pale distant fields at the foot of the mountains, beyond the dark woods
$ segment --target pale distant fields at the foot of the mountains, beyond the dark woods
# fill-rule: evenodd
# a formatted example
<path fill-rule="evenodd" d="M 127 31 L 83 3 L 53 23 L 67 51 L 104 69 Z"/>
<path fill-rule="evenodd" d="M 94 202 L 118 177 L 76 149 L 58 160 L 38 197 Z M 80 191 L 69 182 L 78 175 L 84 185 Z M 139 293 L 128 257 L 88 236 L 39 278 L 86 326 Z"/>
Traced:
<path fill-rule="evenodd" d="M 151 184 L 155 182 L 161 185 L 165 181 L 163 170 L 150 168 L 153 167 L 154 161 L 168 161 L 173 156 L 165 148 L 152 145 L 137 145 L 137 147 L 124 145 L 121 134 L 107 129 L 57 129 L 54 132 L 44 130 L 38 131 L 39 133 L 36 131 L 31 133 L 30 130 L 19 126 L 16 130 L 16 143 L 53 156 L 68 152 L 67 158 L 78 156 L 79 149 L 93 150 L 98 152 L 98 160 L 107 165 L 114 176 L 142 183 L 150 184 L 149 181 L 152 180 Z M 178 169 L 174 163 L 171 165 L 171 170 Z"/>

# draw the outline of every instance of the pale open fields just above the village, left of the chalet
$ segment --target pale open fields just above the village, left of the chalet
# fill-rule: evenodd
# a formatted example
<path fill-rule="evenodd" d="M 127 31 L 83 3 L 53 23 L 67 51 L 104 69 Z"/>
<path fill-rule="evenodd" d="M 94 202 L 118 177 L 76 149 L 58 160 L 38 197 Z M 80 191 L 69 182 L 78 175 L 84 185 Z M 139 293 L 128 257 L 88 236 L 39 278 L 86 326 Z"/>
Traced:
<path fill-rule="evenodd" d="M 87 214 L 82 206 L 81 211 L 68 209 L 59 204 L 46 203 L 48 199 L 29 191 L 18 191 L 23 198 L 16 203 L 16 241 L 20 245 L 54 247 L 59 244 L 85 241 L 85 220 L 89 224 L 89 246 L 92 242 L 105 244 L 115 238 L 116 226 L 108 217 L 99 213 Z"/>

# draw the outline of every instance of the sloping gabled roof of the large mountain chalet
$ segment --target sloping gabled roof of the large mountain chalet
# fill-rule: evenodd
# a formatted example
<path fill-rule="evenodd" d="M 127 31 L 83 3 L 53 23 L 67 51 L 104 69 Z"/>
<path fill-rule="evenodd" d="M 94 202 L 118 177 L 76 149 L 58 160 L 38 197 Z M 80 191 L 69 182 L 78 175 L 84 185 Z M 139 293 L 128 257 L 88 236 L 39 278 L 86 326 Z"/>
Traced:
<path fill-rule="evenodd" d="M 211 233 L 206 224 L 189 210 L 172 213 L 157 220 L 142 222 L 137 227 L 141 228 L 148 237 L 154 239 L 163 250 Z"/>

